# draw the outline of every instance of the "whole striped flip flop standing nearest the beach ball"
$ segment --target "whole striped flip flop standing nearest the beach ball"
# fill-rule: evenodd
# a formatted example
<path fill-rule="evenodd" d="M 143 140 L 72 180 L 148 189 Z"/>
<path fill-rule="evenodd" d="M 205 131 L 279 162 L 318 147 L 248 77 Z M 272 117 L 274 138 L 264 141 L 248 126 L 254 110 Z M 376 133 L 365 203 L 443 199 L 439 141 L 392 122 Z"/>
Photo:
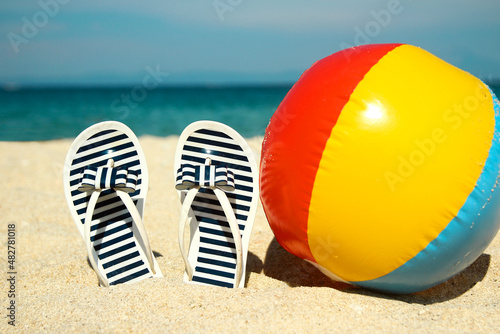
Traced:
<path fill-rule="evenodd" d="M 182 203 L 179 245 L 184 281 L 244 287 L 259 198 L 257 165 L 250 147 L 224 124 L 192 123 L 179 138 L 174 176 Z M 191 233 L 186 254 L 188 219 Z"/>

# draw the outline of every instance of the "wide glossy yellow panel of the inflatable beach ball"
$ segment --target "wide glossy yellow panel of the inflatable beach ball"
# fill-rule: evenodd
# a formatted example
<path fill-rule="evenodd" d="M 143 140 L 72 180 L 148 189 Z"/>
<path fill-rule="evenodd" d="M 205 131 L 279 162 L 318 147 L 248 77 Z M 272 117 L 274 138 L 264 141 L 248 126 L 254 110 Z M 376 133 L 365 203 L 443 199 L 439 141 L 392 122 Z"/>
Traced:
<path fill-rule="evenodd" d="M 307 233 L 318 265 L 350 282 L 375 279 L 443 231 L 488 156 L 495 121 L 487 91 L 409 45 L 371 68 L 316 174 Z"/>

